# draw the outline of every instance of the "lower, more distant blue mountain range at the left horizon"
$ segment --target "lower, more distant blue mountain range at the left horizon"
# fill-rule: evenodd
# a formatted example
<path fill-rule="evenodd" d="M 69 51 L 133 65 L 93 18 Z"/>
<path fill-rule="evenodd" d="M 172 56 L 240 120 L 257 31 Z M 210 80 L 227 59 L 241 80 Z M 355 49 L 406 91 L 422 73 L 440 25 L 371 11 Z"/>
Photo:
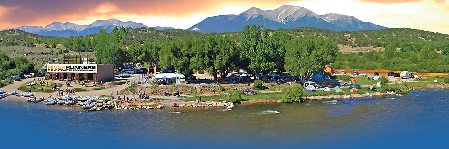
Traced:
<path fill-rule="evenodd" d="M 13 29 L 20 29 L 28 33 L 34 33 L 44 36 L 56 36 L 56 37 L 70 37 L 70 36 L 80 36 L 99 33 L 101 29 L 106 29 L 107 32 L 111 32 L 114 27 L 131 27 L 141 28 L 148 27 L 142 23 L 136 23 L 133 21 L 122 22 L 116 19 L 109 20 L 96 20 L 89 25 L 78 25 L 75 23 L 61 23 L 54 22 L 48 24 L 47 26 L 22 26 Z M 157 30 L 171 29 L 172 27 L 153 27 Z M 8 30 L 8 29 L 5 29 Z"/>

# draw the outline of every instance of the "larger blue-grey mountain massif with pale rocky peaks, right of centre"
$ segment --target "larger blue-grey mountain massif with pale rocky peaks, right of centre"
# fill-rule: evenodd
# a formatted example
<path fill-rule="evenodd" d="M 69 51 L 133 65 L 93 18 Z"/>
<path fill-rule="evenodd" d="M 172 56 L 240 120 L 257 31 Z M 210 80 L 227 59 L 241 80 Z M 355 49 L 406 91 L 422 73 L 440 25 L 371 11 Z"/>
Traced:
<path fill-rule="evenodd" d="M 277 30 L 296 27 L 315 27 L 334 31 L 379 30 L 387 27 L 363 22 L 353 16 L 329 13 L 318 15 L 299 6 L 283 5 L 274 10 L 251 7 L 239 15 L 219 15 L 208 17 L 187 30 L 202 33 L 237 32 L 246 25 L 263 25 L 263 28 Z"/>

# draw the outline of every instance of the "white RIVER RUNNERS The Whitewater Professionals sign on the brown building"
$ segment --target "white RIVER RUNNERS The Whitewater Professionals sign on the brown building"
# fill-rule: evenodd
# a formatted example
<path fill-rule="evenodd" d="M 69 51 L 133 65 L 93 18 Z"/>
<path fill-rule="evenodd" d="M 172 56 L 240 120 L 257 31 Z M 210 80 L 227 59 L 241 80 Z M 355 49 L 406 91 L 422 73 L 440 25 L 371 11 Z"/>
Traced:
<path fill-rule="evenodd" d="M 49 73 L 97 73 L 97 64 L 47 64 Z"/>

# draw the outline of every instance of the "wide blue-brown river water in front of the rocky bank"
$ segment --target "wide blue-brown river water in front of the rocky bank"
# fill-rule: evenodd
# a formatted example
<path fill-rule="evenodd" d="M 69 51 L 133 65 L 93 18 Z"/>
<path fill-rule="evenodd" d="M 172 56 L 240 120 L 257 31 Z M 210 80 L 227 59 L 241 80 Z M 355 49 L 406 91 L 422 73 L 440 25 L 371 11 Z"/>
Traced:
<path fill-rule="evenodd" d="M 447 148 L 449 90 L 222 108 L 85 111 L 0 100 L 15 148 Z M 6 149 L 6 148 L 3 148 Z"/>

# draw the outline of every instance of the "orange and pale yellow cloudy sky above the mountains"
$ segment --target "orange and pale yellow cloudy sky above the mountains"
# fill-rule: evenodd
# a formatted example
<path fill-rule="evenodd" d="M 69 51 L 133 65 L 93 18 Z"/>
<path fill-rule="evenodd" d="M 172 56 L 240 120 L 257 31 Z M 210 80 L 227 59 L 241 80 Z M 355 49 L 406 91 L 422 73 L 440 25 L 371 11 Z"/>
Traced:
<path fill-rule="evenodd" d="M 449 34 L 449 0 L 0 0 L 0 30 L 53 22 L 82 25 L 111 18 L 187 29 L 207 17 L 285 4 L 318 15 L 345 14 L 390 28 Z"/>

